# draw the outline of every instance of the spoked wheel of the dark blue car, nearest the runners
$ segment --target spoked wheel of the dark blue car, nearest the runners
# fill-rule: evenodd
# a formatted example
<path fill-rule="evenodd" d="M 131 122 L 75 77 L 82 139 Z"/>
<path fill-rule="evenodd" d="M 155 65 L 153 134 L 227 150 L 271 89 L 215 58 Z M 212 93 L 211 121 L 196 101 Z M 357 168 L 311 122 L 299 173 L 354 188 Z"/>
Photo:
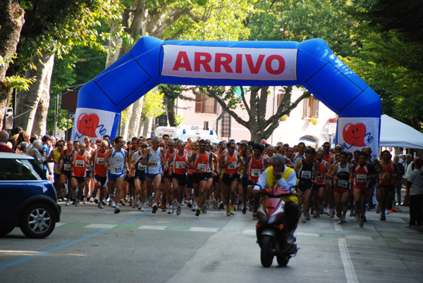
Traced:
<path fill-rule="evenodd" d="M 20 229 L 30 238 L 41 239 L 49 236 L 55 225 L 53 210 L 44 204 L 30 206 L 20 220 Z"/>

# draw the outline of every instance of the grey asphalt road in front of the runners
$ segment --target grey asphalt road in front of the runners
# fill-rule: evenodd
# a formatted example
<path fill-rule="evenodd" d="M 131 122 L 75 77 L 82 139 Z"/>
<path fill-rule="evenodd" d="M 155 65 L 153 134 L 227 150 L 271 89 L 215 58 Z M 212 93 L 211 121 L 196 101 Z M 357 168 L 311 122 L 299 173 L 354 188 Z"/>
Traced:
<path fill-rule="evenodd" d="M 196 217 L 128 206 L 62 205 L 46 239 L 15 228 L 0 238 L 0 282 L 423 282 L 423 233 L 407 208 L 360 228 L 323 215 L 300 223 L 286 268 L 262 268 L 252 215 L 209 209 Z"/>

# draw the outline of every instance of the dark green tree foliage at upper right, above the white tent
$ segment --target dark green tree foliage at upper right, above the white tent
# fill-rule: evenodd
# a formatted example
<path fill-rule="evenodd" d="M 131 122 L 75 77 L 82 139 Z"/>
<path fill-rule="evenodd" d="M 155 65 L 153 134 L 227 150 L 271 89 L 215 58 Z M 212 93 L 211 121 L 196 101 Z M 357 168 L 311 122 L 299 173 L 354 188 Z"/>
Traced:
<path fill-rule="evenodd" d="M 411 2 L 354 1 L 364 36 L 360 52 L 343 60 L 379 94 L 382 113 L 422 131 L 422 3 Z"/>

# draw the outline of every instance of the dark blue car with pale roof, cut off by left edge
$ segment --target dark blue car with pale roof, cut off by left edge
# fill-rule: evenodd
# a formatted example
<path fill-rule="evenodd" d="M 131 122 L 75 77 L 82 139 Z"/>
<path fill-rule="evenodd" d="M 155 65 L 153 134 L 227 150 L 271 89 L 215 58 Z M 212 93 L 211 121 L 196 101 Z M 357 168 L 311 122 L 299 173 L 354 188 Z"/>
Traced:
<path fill-rule="evenodd" d="M 56 190 L 34 158 L 0 153 L 0 236 L 20 227 L 30 238 L 45 238 L 60 221 Z"/>

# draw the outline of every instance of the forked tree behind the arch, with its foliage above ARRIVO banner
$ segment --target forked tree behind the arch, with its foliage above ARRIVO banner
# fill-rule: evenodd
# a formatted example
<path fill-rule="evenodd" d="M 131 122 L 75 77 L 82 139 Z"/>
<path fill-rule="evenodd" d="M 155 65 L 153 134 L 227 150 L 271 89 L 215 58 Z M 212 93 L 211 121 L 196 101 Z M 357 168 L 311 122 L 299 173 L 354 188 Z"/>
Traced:
<path fill-rule="evenodd" d="M 357 49 L 351 36 L 355 29 L 353 19 L 345 12 L 346 0 L 324 1 L 257 1 L 252 13 L 245 18 L 245 25 L 250 30 L 249 40 L 259 41 L 295 41 L 321 38 L 338 54 L 353 54 Z M 300 87 L 300 86 L 298 86 Z M 283 101 L 274 115 L 266 119 L 268 87 L 252 87 L 250 101 L 244 94 L 234 95 L 234 88 L 200 87 L 197 92 L 207 93 L 218 101 L 224 111 L 240 125 L 250 130 L 251 138 L 256 142 L 267 139 L 278 127 L 278 122 L 309 92 L 295 101 L 291 101 L 292 87 L 284 87 Z M 248 120 L 243 120 L 235 113 L 235 108 L 247 112 Z"/>

